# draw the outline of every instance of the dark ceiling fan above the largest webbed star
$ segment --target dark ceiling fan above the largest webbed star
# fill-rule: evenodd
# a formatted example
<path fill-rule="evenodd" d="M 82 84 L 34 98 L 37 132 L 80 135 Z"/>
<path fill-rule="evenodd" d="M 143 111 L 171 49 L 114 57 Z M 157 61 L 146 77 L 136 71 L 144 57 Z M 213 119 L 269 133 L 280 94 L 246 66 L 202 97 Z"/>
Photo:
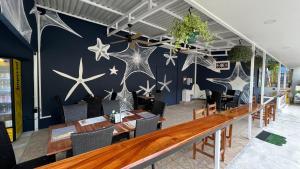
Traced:
<path fill-rule="evenodd" d="M 129 48 L 131 48 L 131 49 L 135 49 L 137 43 L 142 43 L 142 44 L 145 44 L 145 45 L 149 45 L 149 43 L 147 41 L 139 40 L 139 38 L 142 36 L 142 34 L 139 33 L 139 32 L 136 33 L 136 34 L 133 34 L 132 31 L 131 31 L 131 27 L 132 27 L 132 24 L 128 24 L 129 34 L 126 35 L 126 36 L 113 34 L 113 36 L 119 37 L 122 40 L 112 42 L 111 44 L 119 44 L 119 43 L 123 43 L 123 42 L 128 42 L 129 43 Z"/>

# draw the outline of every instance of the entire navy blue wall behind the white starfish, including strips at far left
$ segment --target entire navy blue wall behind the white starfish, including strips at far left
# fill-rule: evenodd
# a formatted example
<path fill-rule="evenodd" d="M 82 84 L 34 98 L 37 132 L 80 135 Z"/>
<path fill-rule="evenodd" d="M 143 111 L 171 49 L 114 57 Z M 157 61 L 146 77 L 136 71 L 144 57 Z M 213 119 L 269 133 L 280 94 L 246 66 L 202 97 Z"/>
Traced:
<path fill-rule="evenodd" d="M 29 13 L 32 8 L 32 1 L 26 1 L 25 10 Z M 31 46 L 36 50 L 36 25 L 33 15 L 28 16 L 29 22 L 33 28 L 33 37 Z M 87 48 L 96 44 L 96 38 L 100 38 L 104 44 L 110 44 L 116 40 L 116 37 L 107 37 L 106 28 L 93 23 L 74 19 L 68 16 L 60 15 L 61 19 L 69 25 L 73 30 L 79 33 L 83 38 L 79 38 L 74 34 L 67 32 L 57 27 L 47 27 L 43 31 L 42 49 L 41 49 L 41 65 L 42 65 L 42 101 L 43 101 L 43 115 L 52 115 L 52 118 L 41 119 L 40 128 L 48 127 L 51 124 L 59 123 L 59 114 L 56 111 L 56 103 L 54 96 L 59 95 L 62 99 L 65 98 L 69 89 L 74 85 L 74 81 L 65 79 L 54 73 L 52 70 L 58 70 L 69 75 L 78 76 L 78 67 L 80 58 L 83 60 L 84 77 L 90 77 L 96 74 L 105 73 L 105 76 L 96 80 L 87 82 L 87 85 L 96 96 L 104 97 L 106 93 L 104 90 L 111 90 L 119 92 L 122 89 L 120 85 L 125 71 L 125 63 L 117 58 L 110 57 L 110 60 L 102 58 L 100 61 L 95 60 L 93 52 Z M 5 26 L 0 24 L 0 56 L 8 57 L 24 57 L 23 59 L 23 112 L 24 112 L 24 129 L 33 129 L 33 70 L 32 70 L 32 54 L 33 51 L 27 48 L 9 31 L 4 31 Z M 109 52 L 120 52 L 127 48 L 127 43 L 111 45 Z M 164 53 L 169 51 L 158 47 L 149 58 L 149 65 L 156 77 L 152 79 L 143 73 L 134 73 L 127 80 L 126 85 L 129 91 L 136 91 L 139 85 L 145 86 L 146 81 L 150 81 L 150 85 L 156 84 L 157 81 L 163 81 L 164 75 L 167 75 L 167 80 L 172 80 L 170 84 L 171 92 L 165 92 L 165 101 L 168 105 L 177 104 L 181 101 L 181 93 L 184 88 L 191 88 L 183 84 L 183 77 L 193 78 L 194 65 L 188 67 L 185 71 L 181 71 L 185 62 L 186 55 L 178 54 L 178 59 L 175 59 L 176 66 L 170 63 L 165 65 L 166 58 Z M 226 59 L 226 58 L 221 58 Z M 111 76 L 109 68 L 113 66 L 119 70 L 117 76 Z M 222 85 L 211 83 L 206 78 L 228 77 L 231 75 L 234 64 L 231 65 L 231 70 L 216 73 L 200 65 L 197 66 L 197 83 L 201 90 L 211 89 L 216 91 L 224 91 Z M 249 72 L 246 69 L 246 72 Z M 161 85 L 157 85 L 159 89 Z M 64 102 L 64 104 L 73 104 L 82 100 L 88 93 L 80 85 L 73 92 L 71 97 Z"/>

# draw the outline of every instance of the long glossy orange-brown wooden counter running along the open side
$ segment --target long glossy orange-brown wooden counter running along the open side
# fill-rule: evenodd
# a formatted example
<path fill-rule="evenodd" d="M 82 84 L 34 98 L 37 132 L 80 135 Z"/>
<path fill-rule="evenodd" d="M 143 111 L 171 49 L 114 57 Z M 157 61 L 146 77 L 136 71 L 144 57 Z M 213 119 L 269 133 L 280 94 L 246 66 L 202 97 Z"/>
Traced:
<path fill-rule="evenodd" d="M 163 155 L 170 154 L 174 150 L 210 135 L 216 130 L 232 124 L 235 120 L 240 119 L 240 117 L 245 117 L 260 109 L 261 106 L 259 104 L 241 106 L 230 111 L 158 130 L 40 168 L 119 169 L 145 166 L 152 160 L 155 161 Z"/>

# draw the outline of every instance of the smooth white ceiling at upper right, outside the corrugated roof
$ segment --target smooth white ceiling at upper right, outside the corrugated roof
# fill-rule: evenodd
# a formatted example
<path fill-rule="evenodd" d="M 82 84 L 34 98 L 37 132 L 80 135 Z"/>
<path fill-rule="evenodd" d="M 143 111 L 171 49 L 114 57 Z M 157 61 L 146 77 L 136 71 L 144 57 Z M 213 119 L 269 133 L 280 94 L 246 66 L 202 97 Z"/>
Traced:
<path fill-rule="evenodd" d="M 299 0 L 195 1 L 288 67 L 300 66 Z"/>

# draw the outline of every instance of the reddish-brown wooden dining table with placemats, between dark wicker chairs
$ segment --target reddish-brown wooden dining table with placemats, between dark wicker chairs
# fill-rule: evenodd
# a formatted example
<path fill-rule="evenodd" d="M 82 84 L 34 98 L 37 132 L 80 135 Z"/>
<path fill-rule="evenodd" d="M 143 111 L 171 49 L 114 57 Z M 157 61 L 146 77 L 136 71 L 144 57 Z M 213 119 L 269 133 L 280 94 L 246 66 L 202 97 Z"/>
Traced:
<path fill-rule="evenodd" d="M 131 113 L 133 115 L 131 116 L 127 116 L 124 117 L 122 119 L 122 122 L 120 123 L 112 123 L 108 120 L 108 117 L 105 117 L 107 120 L 106 121 L 102 121 L 102 122 L 98 122 L 98 123 L 93 123 L 90 125 L 85 125 L 82 126 L 80 125 L 79 121 L 74 121 L 74 122 L 70 122 L 70 123 L 64 123 L 64 124 L 57 124 L 57 125 L 53 125 L 50 126 L 48 128 L 49 131 L 49 138 L 48 138 L 48 147 L 47 147 L 47 155 L 55 155 L 57 153 L 61 153 L 61 152 L 65 152 L 68 150 L 72 149 L 72 141 L 70 137 L 67 137 L 65 139 L 61 139 L 61 140 L 57 140 L 57 141 L 53 141 L 52 140 L 52 131 L 54 129 L 60 129 L 60 128 L 64 128 L 67 126 L 75 126 L 77 133 L 81 133 L 81 132 L 90 132 L 90 131 L 95 131 L 99 128 L 105 128 L 108 126 L 113 125 L 115 127 L 115 131 L 114 132 L 114 136 L 118 136 L 124 133 L 129 133 L 131 131 L 134 131 L 135 128 L 130 127 L 129 125 L 126 125 L 125 122 L 128 121 L 133 121 L 133 120 L 137 120 L 137 119 L 142 119 L 143 117 L 141 115 L 139 115 L 140 113 L 145 112 L 144 110 L 134 110 L 131 111 Z M 166 119 L 164 117 L 161 117 L 159 120 L 159 123 L 165 121 Z"/>

